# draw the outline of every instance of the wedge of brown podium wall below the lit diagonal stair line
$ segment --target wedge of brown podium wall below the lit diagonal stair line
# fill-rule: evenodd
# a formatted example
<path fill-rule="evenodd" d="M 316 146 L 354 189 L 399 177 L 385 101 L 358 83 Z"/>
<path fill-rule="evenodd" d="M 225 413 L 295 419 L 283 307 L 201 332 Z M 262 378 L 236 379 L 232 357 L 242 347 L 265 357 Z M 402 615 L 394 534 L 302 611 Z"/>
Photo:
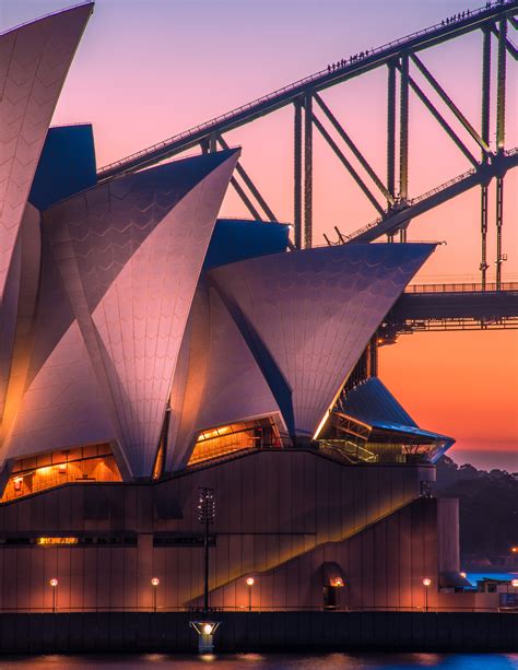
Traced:
<path fill-rule="evenodd" d="M 325 563 L 342 569 L 344 586 L 337 589 L 341 609 L 468 610 L 475 607 L 475 593 L 446 593 L 438 590 L 439 572 L 459 571 L 458 557 L 440 554 L 446 526 L 449 545 L 457 537 L 457 499 L 420 497 L 368 525 L 340 542 L 326 542 L 262 573 L 252 573 L 251 589 L 239 576 L 214 589 L 211 604 L 244 609 L 251 596 L 252 609 L 304 610 L 322 607 Z M 432 579 L 425 589 L 423 579 Z M 251 593 L 249 592 L 251 590 Z M 426 592 L 425 592 L 426 591 Z M 202 599 L 189 604 L 201 607 Z"/>

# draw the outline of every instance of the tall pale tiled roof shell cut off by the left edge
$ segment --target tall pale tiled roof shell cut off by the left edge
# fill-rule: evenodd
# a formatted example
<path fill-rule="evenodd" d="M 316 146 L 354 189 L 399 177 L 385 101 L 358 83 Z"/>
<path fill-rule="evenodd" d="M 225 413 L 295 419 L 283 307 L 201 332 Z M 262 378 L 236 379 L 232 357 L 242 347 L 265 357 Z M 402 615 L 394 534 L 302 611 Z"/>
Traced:
<path fill-rule="evenodd" d="M 0 35 L 0 298 L 47 129 L 93 3 Z"/>

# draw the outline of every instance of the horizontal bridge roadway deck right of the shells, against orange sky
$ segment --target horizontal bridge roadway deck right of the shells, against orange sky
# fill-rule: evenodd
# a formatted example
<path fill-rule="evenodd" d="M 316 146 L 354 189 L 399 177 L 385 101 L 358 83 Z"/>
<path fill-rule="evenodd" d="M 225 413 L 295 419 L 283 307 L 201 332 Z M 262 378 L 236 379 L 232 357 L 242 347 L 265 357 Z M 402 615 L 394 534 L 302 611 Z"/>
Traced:
<path fill-rule="evenodd" d="M 396 303 L 382 329 L 393 334 L 416 330 L 518 328 L 518 282 L 496 291 L 478 283 L 411 285 Z"/>

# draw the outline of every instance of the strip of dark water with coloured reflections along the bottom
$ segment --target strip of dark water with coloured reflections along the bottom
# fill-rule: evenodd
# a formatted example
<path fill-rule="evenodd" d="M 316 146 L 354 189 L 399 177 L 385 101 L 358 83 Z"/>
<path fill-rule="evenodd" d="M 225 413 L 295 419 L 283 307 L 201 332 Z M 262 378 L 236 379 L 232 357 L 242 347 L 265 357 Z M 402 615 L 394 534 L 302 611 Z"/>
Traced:
<path fill-rule="evenodd" d="M 0 670 L 515 670 L 518 654 L 235 654 L 222 656 L 32 656 L 2 660 Z"/>

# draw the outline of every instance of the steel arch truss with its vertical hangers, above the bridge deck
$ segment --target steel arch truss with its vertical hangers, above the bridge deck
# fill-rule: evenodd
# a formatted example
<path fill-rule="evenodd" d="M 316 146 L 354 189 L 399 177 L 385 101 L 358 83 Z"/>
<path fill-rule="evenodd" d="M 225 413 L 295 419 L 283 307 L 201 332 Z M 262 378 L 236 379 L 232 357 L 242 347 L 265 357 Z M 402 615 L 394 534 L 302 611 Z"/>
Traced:
<path fill-rule="evenodd" d="M 224 133 L 251 124 L 286 106 L 293 106 L 294 248 L 313 246 L 313 144 L 314 133 L 317 130 L 378 213 L 375 221 L 355 233 L 343 235 L 335 227 L 338 239 L 331 242 L 326 237 L 328 244 L 372 242 L 381 235 L 387 235 L 390 242 L 395 242 L 397 236 L 404 242 L 408 225 L 414 218 L 471 188 L 479 187 L 481 193 L 481 291 L 490 289 L 487 284 L 490 267 L 487 262 L 490 220 L 487 192 L 490 183 L 495 179 L 496 281 L 491 290 L 502 291 L 504 289 L 502 266 L 506 260 L 502 237 L 504 180 L 507 171 L 518 165 L 518 148 L 506 148 L 505 144 L 507 69 L 513 61 L 518 59 L 518 49 L 510 34 L 517 28 L 518 0 L 486 2 L 481 9 L 463 11 L 403 38 L 350 56 L 269 95 L 106 165 L 98 171 L 98 179 L 106 180 L 151 166 L 196 146 L 199 146 L 202 152 L 215 151 L 217 146 L 227 148 Z M 466 114 L 420 58 L 421 52 L 431 47 L 474 32 L 480 32 L 482 36 L 480 129 L 468 120 Z M 495 79 L 492 73 L 492 58 L 496 60 L 495 82 L 492 81 Z M 375 172 L 320 95 L 327 89 L 346 84 L 348 81 L 379 68 L 387 71 L 385 178 Z M 417 83 L 414 71 L 419 72 L 420 78 L 424 79 L 435 97 L 447 107 L 447 116 L 439 110 L 437 104 Z M 493 87 L 496 91 L 495 119 L 491 119 L 490 114 Z M 414 198 L 409 197 L 409 101 L 411 93 L 428 110 L 457 150 L 472 165 L 468 172 Z M 328 127 L 333 128 L 340 138 L 340 144 L 327 130 L 322 119 Z M 456 127 L 460 127 L 462 134 L 459 134 Z M 242 164 L 237 165 L 236 172 L 232 184 L 254 219 L 276 221 L 267 198 L 259 192 Z"/>

